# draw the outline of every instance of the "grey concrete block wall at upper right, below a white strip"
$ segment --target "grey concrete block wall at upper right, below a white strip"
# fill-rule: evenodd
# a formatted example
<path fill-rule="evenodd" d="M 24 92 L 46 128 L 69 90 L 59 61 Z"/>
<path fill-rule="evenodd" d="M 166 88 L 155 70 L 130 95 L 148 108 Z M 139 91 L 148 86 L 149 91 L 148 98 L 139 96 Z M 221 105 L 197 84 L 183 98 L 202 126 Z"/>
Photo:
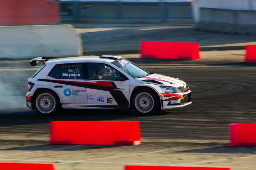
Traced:
<path fill-rule="evenodd" d="M 196 28 L 211 33 L 256 35 L 256 11 L 200 8 Z"/>

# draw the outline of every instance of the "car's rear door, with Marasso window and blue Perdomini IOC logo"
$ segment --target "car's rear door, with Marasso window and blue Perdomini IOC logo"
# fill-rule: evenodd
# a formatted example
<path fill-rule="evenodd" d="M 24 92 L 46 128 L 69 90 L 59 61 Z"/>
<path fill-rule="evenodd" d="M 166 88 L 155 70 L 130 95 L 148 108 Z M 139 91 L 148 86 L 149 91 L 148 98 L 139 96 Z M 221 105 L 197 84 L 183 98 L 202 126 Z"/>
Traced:
<path fill-rule="evenodd" d="M 87 107 L 84 63 L 56 64 L 47 76 L 49 87 L 59 94 L 63 108 Z"/>

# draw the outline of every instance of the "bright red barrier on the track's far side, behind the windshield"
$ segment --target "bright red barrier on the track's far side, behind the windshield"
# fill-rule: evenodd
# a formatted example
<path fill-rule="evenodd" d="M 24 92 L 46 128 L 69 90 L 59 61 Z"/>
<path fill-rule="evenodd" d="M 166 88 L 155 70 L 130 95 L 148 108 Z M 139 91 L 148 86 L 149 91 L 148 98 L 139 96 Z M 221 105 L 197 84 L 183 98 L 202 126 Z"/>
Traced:
<path fill-rule="evenodd" d="M 198 60 L 200 57 L 198 43 L 142 41 L 140 54 L 142 58 Z"/>

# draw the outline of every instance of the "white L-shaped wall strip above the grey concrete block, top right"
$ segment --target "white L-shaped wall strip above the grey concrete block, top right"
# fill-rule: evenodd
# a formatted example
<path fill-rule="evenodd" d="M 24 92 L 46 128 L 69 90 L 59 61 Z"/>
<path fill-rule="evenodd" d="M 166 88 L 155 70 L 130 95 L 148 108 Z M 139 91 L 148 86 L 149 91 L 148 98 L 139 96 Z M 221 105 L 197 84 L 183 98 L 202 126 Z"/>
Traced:
<path fill-rule="evenodd" d="M 256 10 L 256 0 L 193 0 L 192 9 L 195 23 L 200 19 L 200 8 L 232 10 Z"/>

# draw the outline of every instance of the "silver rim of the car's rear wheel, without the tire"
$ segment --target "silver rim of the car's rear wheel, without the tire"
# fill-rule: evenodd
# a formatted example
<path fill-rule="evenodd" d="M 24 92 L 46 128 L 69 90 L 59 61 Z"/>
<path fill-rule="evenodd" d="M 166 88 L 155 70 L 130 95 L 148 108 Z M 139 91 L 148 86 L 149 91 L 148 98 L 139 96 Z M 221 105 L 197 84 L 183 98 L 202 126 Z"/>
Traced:
<path fill-rule="evenodd" d="M 56 102 L 54 97 L 49 93 L 42 93 L 36 99 L 37 109 L 44 114 L 50 113 L 55 108 Z"/>

